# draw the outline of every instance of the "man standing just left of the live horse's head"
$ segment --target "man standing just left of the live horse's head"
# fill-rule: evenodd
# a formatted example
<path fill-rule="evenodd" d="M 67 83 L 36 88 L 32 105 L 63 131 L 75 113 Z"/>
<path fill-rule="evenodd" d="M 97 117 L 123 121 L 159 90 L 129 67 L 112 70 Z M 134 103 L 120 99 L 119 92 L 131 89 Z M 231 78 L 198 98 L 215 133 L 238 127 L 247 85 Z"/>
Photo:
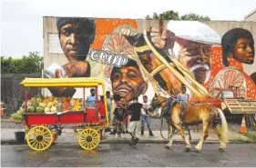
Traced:
<path fill-rule="evenodd" d="M 146 123 L 148 126 L 148 132 L 149 132 L 149 136 L 154 136 L 154 134 L 152 133 L 152 130 L 150 128 L 150 124 L 149 124 L 149 119 L 148 119 L 148 96 L 144 95 L 143 96 L 143 103 L 142 103 L 142 113 L 141 114 L 141 135 L 144 134 L 144 124 Z"/>

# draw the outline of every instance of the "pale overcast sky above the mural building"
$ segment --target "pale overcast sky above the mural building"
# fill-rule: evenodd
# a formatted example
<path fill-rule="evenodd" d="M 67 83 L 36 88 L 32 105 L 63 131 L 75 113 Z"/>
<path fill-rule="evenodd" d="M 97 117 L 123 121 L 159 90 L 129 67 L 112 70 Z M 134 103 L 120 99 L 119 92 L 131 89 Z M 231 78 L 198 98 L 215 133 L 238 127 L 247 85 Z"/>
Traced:
<path fill-rule="evenodd" d="M 168 10 L 196 13 L 211 20 L 242 21 L 256 0 L 0 0 L 0 54 L 43 55 L 43 16 L 145 18 Z"/>

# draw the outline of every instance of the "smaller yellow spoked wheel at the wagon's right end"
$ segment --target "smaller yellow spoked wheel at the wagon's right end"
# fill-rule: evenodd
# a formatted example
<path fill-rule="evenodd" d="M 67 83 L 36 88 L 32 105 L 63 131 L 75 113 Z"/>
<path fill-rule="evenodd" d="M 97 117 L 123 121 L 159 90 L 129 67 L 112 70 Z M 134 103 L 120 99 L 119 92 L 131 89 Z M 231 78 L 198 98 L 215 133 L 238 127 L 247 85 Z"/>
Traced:
<path fill-rule="evenodd" d="M 87 128 L 81 131 L 78 135 L 78 143 L 83 149 L 92 150 L 97 148 L 99 144 L 99 133 L 97 130 L 92 128 Z"/>

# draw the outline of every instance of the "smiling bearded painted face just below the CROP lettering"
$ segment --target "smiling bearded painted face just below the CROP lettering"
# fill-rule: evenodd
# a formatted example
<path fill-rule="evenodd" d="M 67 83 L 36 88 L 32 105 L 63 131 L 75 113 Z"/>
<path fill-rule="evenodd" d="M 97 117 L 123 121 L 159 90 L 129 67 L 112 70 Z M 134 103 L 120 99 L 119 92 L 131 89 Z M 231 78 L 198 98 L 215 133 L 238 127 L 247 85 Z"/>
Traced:
<path fill-rule="evenodd" d="M 139 69 L 134 66 L 118 68 L 118 71 L 113 74 L 111 82 L 113 94 L 119 94 L 128 102 L 142 94 L 145 88 L 145 81 Z"/>

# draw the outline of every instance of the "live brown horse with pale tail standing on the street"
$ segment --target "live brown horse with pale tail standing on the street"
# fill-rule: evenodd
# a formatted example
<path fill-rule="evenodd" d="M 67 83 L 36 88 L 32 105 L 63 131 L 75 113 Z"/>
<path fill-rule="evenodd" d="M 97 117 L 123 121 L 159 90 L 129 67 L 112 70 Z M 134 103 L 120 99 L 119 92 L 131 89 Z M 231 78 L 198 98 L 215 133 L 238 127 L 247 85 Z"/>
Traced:
<path fill-rule="evenodd" d="M 166 148 L 169 148 L 172 145 L 172 132 L 173 127 L 175 127 L 179 131 L 184 142 L 186 143 L 186 151 L 190 150 L 190 143 L 185 136 L 182 125 L 180 124 L 180 122 L 182 122 L 182 124 L 184 125 L 197 125 L 201 123 L 203 124 L 203 133 L 201 135 L 200 142 L 195 146 L 197 152 L 200 152 L 202 144 L 209 135 L 210 124 L 212 126 L 212 129 L 215 133 L 218 134 L 218 137 L 220 139 L 220 151 L 222 152 L 224 150 L 227 143 L 228 124 L 223 112 L 219 108 L 208 103 L 188 103 L 184 108 L 183 116 L 181 116 L 181 103 L 175 101 L 172 98 L 170 98 L 169 100 L 170 102 L 172 102 L 172 105 L 169 108 L 169 143 L 166 145 Z M 166 107 L 166 104 L 167 98 L 156 94 L 152 99 L 151 108 L 164 108 Z M 181 121 L 180 118 L 182 118 Z M 217 124 L 221 125 L 220 131 L 217 128 Z"/>

